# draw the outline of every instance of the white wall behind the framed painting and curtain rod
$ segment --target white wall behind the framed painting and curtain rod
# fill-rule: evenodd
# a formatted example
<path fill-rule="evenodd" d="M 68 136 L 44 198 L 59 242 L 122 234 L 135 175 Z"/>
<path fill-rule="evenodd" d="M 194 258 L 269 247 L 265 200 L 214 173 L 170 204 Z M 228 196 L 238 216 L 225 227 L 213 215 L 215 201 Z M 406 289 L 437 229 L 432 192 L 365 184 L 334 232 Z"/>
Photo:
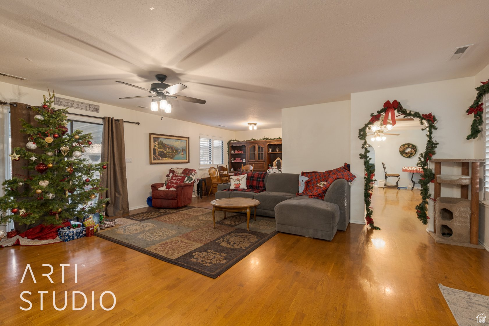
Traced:
<path fill-rule="evenodd" d="M 0 100 L 6 102 L 22 102 L 29 105 L 40 105 L 43 95 L 47 92 L 15 86 L 0 82 Z M 151 196 L 150 185 L 161 182 L 169 168 L 179 166 L 191 169 L 199 169 L 200 134 L 224 138 L 224 144 L 235 137 L 234 131 L 223 130 L 214 127 L 203 126 L 195 123 L 180 121 L 171 118 L 160 119 L 160 116 L 114 107 L 106 104 L 92 102 L 86 99 L 78 99 L 68 94 L 56 94 L 60 97 L 89 102 L 100 105 L 100 113 L 92 113 L 80 109 L 69 109 L 69 112 L 89 114 L 93 116 L 110 116 L 127 121 L 140 122 L 140 125 L 124 124 L 124 136 L 126 145 L 126 158 L 131 158 L 132 163 L 126 163 L 127 183 L 129 193 L 129 208 L 146 207 L 146 198 Z M 76 117 L 76 119 L 80 119 Z M 91 120 L 100 122 L 100 120 Z M 3 122 L 1 122 L 3 123 Z M 149 133 L 161 133 L 190 137 L 190 163 L 188 164 L 149 164 Z M 3 139 L 5 144 L 6 140 Z M 1 153 L 3 155 L 3 152 Z M 3 162 L 3 157 L 0 157 Z M 3 163 L 2 163 L 3 164 Z M 199 171 L 202 174 L 203 171 Z"/>

